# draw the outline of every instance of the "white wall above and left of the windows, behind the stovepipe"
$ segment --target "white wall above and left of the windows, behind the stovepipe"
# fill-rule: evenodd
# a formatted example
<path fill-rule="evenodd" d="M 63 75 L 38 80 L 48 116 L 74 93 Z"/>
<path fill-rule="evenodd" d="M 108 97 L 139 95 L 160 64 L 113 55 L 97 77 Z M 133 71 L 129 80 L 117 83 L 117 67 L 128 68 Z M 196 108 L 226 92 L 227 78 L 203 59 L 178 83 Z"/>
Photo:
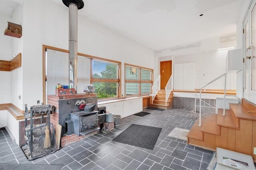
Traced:
<path fill-rule="evenodd" d="M 12 101 L 20 109 L 24 109 L 24 104 L 31 106 L 35 105 L 37 100 L 42 101 L 42 45 L 68 49 L 68 8 L 42 0 L 24 1 L 21 6 L 23 8 L 17 13 L 22 13 L 22 42 L 16 44 L 12 51 L 23 47 L 22 68 L 17 69 L 16 73 L 12 72 L 12 78 L 20 77 L 16 81 L 12 79 L 12 89 L 19 85 L 12 94 Z M 121 61 L 122 94 L 124 63 L 155 69 L 153 50 L 80 15 L 78 52 Z M 18 95 L 22 95 L 22 104 L 17 100 Z"/>

